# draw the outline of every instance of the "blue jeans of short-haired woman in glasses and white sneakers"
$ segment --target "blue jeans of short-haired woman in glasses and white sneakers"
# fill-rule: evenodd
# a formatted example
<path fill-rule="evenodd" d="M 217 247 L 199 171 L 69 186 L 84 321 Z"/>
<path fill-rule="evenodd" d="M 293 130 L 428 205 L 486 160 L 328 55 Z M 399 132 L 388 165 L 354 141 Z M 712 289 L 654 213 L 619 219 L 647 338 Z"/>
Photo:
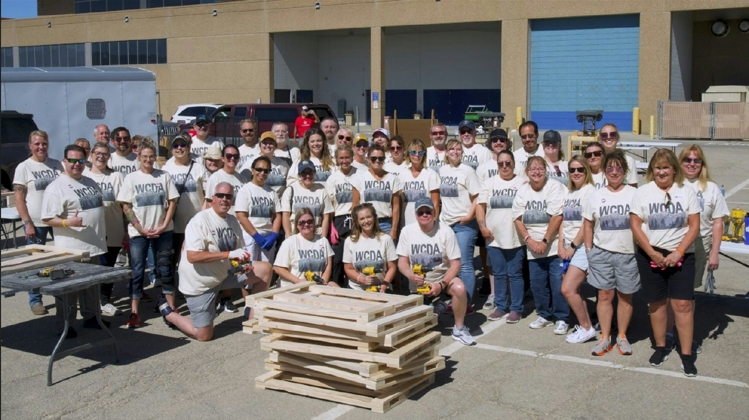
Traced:
<path fill-rule="evenodd" d="M 556 318 L 568 322 L 569 304 L 562 294 L 561 264 L 562 260 L 557 255 L 528 260 L 530 290 L 539 315 L 547 320 Z"/>

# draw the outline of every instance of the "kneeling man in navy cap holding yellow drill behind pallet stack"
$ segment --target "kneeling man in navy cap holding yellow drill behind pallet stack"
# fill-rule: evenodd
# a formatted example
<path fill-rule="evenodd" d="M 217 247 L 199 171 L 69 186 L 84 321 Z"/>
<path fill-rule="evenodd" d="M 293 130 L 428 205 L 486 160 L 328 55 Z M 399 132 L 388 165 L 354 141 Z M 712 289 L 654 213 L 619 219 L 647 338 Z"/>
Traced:
<path fill-rule="evenodd" d="M 398 269 L 409 281 L 411 292 L 416 287 L 428 284 L 425 294 L 435 297 L 446 293 L 452 297 L 455 326 L 452 339 L 467 346 L 476 344 L 463 320 L 468 307 L 468 297 L 463 281 L 458 278 L 461 270 L 461 250 L 458 240 L 449 226 L 435 220 L 434 204 L 423 197 L 416 201 L 416 223 L 406 225 L 401 231 L 397 254 Z M 428 270 L 425 276 L 413 273 L 413 266 L 421 265 Z"/>

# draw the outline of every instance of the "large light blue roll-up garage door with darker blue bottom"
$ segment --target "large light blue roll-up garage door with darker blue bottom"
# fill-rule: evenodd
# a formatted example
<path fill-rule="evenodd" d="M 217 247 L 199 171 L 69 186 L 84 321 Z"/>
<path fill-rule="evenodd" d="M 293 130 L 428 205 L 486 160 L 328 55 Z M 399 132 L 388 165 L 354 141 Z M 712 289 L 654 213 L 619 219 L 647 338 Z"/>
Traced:
<path fill-rule="evenodd" d="M 534 20 L 530 118 L 542 130 L 581 130 L 575 111 L 603 109 L 596 127 L 632 130 L 639 45 L 638 15 Z"/>

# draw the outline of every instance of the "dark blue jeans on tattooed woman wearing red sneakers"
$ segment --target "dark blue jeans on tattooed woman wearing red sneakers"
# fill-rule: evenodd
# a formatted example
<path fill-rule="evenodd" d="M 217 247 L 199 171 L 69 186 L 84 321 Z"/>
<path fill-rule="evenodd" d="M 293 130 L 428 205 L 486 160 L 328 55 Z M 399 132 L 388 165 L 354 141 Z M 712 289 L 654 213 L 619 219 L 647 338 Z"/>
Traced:
<path fill-rule="evenodd" d="M 151 243 L 157 253 L 157 278 L 161 279 L 163 293 L 175 293 L 175 278 L 172 275 L 172 232 L 162 232 L 159 237 L 130 238 L 130 265 L 133 267 L 133 280 L 130 281 L 130 299 L 140 299 L 143 296 L 143 281 L 145 267 L 148 261 L 148 248 Z"/>

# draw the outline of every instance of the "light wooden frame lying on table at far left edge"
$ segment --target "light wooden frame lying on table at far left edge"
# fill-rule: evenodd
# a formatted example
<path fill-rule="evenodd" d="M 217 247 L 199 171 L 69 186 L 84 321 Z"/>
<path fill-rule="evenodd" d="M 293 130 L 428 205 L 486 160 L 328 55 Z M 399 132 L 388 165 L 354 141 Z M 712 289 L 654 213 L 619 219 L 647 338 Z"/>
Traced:
<path fill-rule="evenodd" d="M 4 249 L 0 274 L 13 274 L 25 270 L 52 267 L 70 261 L 88 261 L 88 251 L 63 249 L 47 245 L 27 245 L 18 249 Z"/>

